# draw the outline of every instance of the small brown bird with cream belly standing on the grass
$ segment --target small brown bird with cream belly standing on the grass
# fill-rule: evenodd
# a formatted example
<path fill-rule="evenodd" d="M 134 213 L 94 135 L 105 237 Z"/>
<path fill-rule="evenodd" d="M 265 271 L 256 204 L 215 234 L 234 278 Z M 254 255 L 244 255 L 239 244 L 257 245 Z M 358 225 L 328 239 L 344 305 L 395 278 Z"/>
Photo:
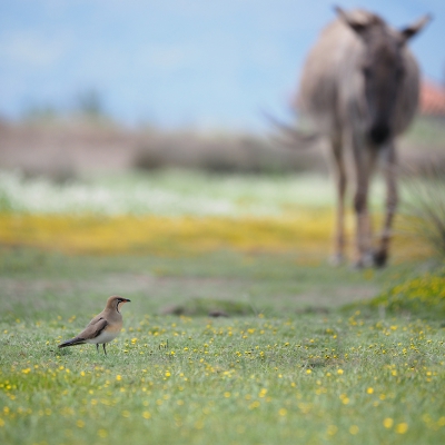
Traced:
<path fill-rule="evenodd" d="M 108 298 L 105 309 L 92 318 L 79 335 L 58 345 L 59 348 L 92 343 L 96 344 L 96 349 L 99 352 L 99 345 L 102 344 L 103 353 L 107 355 L 105 345 L 113 340 L 122 328 L 122 315 L 119 312 L 119 305 L 129 301 L 128 298 L 112 295 Z"/>

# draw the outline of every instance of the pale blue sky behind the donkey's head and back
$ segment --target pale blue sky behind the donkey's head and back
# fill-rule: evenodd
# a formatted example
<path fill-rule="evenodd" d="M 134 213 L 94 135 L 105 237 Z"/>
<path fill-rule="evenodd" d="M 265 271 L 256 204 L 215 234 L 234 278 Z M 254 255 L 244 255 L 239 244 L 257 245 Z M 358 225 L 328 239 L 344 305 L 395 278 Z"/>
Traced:
<path fill-rule="evenodd" d="M 95 89 L 128 125 L 261 130 L 286 116 L 333 0 L 0 0 L 0 116 L 69 108 Z M 403 27 L 424 75 L 445 78 L 445 1 L 338 1 Z"/>

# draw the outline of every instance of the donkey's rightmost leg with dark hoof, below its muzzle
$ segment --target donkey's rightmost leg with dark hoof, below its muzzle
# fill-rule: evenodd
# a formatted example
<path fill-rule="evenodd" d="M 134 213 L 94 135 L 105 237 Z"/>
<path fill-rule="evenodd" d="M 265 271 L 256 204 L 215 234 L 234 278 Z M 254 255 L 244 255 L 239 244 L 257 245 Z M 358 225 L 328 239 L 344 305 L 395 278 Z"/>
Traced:
<path fill-rule="evenodd" d="M 389 241 L 392 237 L 392 225 L 398 202 L 397 176 L 396 176 L 396 151 L 394 144 L 385 147 L 384 156 L 384 176 L 386 182 L 386 214 L 383 225 L 379 246 L 374 254 L 374 264 L 383 267 L 388 258 Z"/>

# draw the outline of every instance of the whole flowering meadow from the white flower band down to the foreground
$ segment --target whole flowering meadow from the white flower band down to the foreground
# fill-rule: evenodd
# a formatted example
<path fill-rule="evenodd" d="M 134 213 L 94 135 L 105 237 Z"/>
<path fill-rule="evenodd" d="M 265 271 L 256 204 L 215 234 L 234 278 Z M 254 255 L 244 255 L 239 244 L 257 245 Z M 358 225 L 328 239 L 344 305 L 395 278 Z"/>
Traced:
<path fill-rule="evenodd" d="M 3 172 L 0 212 L 0 443 L 444 442 L 444 267 L 403 215 L 353 270 L 310 175 Z M 58 349 L 112 294 L 108 356 Z"/>

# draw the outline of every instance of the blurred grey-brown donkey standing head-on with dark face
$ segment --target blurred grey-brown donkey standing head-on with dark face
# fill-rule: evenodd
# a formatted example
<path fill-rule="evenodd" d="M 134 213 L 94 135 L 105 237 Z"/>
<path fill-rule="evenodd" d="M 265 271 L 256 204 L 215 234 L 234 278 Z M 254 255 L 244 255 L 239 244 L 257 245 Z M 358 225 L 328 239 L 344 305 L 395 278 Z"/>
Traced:
<path fill-rule="evenodd" d="M 347 152 L 355 174 L 354 264 L 380 267 L 388 257 L 397 206 L 394 140 L 413 120 L 418 102 L 419 70 L 406 43 L 431 18 L 425 16 L 396 31 L 365 10 L 336 8 L 336 12 L 337 19 L 324 29 L 307 57 L 298 108 L 316 132 L 328 139 L 333 151 L 338 200 L 334 261 L 344 259 Z M 373 250 L 368 190 L 378 158 L 387 197 L 383 233 Z"/>

